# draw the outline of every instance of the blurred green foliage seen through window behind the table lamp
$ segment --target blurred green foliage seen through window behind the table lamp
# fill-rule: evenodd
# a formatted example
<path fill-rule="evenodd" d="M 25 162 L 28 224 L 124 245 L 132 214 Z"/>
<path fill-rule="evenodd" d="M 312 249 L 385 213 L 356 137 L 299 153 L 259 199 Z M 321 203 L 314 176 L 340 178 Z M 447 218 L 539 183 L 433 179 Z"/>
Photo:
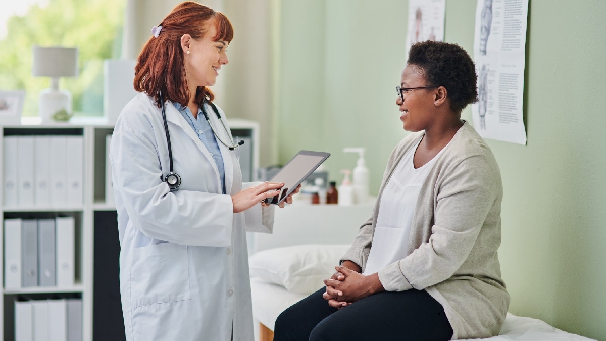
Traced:
<path fill-rule="evenodd" d="M 18 1 L 18 0 L 12 0 Z M 59 80 L 72 92 L 75 115 L 103 113 L 103 62 L 119 58 L 125 0 L 50 0 L 8 20 L 0 40 L 0 90 L 25 90 L 23 116 L 38 115 L 38 95 L 50 78 L 32 76 L 32 46 L 78 47 L 76 77 Z"/>

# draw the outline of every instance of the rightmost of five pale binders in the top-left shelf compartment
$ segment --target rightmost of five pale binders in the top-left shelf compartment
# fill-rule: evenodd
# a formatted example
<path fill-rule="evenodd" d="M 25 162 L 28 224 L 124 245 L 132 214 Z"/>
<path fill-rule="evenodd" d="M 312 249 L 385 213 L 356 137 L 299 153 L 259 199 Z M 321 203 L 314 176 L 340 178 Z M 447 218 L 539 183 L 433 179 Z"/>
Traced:
<path fill-rule="evenodd" d="M 84 178 L 84 138 L 82 136 L 65 137 L 66 158 L 66 201 L 69 206 L 82 206 L 84 193 L 82 179 Z"/>

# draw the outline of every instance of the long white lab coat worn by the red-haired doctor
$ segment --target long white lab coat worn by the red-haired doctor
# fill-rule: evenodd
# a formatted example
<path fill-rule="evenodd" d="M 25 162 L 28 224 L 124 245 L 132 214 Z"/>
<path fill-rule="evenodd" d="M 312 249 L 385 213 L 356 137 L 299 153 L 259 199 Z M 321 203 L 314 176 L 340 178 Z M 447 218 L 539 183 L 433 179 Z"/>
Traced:
<path fill-rule="evenodd" d="M 271 232 L 273 205 L 234 214 L 230 194 L 242 189 L 238 149 L 219 143 L 227 191 L 221 194 L 210 152 L 171 103 L 165 108 L 182 180 L 177 191 L 162 181 L 168 147 L 161 109 L 149 96 L 124 107 L 110 147 L 126 338 L 231 340 L 233 326 L 233 340 L 253 340 L 245 231 Z M 221 139 L 231 141 L 206 109 Z"/>

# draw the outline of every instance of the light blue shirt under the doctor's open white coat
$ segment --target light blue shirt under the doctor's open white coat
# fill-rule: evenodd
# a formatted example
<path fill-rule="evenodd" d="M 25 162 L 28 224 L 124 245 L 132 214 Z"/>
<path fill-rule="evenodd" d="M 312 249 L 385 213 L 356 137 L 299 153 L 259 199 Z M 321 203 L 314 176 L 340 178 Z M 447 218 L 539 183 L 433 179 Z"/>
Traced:
<path fill-rule="evenodd" d="M 188 107 L 182 107 L 180 103 L 176 102 L 173 102 L 173 106 L 179 110 L 181 115 L 185 118 L 185 121 L 189 123 L 191 129 L 198 135 L 202 144 L 208 149 L 208 152 L 213 155 L 213 160 L 215 160 L 219 175 L 221 175 L 221 188 L 223 189 L 223 194 L 225 194 L 225 165 L 223 164 L 221 150 L 219 149 L 215 134 L 202 113 L 202 107 L 198 108 L 198 116 L 197 118 L 194 118 Z"/>

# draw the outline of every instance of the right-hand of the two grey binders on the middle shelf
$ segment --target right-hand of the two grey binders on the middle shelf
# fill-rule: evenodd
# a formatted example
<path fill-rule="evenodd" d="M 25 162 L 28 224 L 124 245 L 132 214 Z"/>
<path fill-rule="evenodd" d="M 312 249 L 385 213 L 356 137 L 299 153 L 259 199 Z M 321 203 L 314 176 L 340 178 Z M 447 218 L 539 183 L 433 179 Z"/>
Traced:
<path fill-rule="evenodd" d="M 55 286 L 55 220 L 38 220 L 38 285 Z"/>

